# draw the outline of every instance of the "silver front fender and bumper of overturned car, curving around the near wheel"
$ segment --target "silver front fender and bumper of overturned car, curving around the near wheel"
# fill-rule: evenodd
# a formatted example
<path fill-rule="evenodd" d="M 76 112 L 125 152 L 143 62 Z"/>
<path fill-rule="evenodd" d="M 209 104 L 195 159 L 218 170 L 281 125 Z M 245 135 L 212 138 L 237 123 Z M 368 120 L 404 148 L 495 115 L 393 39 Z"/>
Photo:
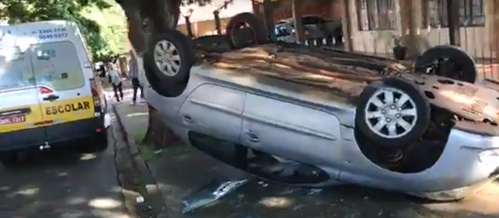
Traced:
<path fill-rule="evenodd" d="M 374 164 L 360 151 L 354 132 L 342 128 L 344 159 L 338 178 L 345 183 L 408 193 L 441 192 L 474 186 L 499 173 L 499 134 L 475 124 L 456 125 L 436 163 L 418 173 L 397 173 Z"/>

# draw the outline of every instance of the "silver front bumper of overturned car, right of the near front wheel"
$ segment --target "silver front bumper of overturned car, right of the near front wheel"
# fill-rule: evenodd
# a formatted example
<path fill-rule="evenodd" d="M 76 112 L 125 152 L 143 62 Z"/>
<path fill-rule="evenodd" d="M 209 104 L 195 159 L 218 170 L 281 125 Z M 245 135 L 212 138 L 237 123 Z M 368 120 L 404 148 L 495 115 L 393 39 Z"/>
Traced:
<path fill-rule="evenodd" d="M 472 186 L 499 174 L 499 136 L 455 128 L 440 159 L 426 171 L 428 191 Z"/>

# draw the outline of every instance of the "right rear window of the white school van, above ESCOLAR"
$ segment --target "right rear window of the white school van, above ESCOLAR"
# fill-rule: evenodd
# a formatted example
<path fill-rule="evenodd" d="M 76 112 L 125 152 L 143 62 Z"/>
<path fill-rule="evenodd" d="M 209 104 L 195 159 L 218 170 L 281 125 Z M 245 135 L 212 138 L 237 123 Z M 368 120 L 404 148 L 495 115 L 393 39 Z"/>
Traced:
<path fill-rule="evenodd" d="M 69 41 L 31 46 L 31 62 L 38 84 L 56 90 L 79 88 L 85 84 L 76 47 Z"/>

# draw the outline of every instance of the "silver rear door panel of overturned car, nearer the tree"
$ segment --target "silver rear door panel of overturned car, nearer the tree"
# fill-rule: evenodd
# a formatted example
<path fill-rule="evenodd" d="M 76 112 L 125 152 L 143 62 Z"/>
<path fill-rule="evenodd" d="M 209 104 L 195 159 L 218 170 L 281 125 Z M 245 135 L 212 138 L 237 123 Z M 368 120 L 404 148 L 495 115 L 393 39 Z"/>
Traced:
<path fill-rule="evenodd" d="M 214 84 L 197 87 L 179 116 L 190 132 L 239 143 L 246 93 Z"/>

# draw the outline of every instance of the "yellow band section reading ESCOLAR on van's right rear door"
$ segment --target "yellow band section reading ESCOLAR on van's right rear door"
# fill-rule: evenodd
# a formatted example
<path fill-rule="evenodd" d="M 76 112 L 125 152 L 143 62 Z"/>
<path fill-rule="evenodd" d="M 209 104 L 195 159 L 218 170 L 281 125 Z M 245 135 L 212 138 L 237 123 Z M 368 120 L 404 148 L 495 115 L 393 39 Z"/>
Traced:
<path fill-rule="evenodd" d="M 93 98 L 91 96 L 43 102 L 40 107 L 44 120 L 53 121 L 53 123 L 44 124 L 45 126 L 94 117 Z"/>

